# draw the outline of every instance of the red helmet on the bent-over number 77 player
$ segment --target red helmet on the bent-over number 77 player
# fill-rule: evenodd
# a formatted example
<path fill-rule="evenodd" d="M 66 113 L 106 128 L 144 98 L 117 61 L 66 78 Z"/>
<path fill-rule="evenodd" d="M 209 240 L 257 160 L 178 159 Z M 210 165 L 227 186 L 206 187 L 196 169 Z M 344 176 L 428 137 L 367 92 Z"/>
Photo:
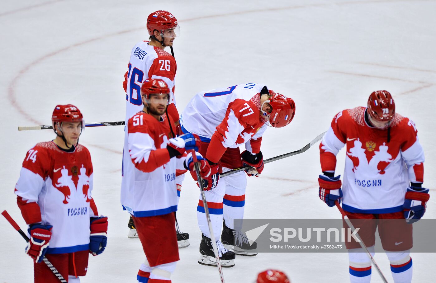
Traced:
<path fill-rule="evenodd" d="M 271 97 L 266 102 L 272 107 L 271 113 L 264 112 L 261 106 L 263 115 L 269 119 L 269 125 L 281 128 L 291 123 L 295 115 L 295 102 L 293 99 L 283 94 L 275 93 L 271 89 L 269 90 L 269 95 Z"/>

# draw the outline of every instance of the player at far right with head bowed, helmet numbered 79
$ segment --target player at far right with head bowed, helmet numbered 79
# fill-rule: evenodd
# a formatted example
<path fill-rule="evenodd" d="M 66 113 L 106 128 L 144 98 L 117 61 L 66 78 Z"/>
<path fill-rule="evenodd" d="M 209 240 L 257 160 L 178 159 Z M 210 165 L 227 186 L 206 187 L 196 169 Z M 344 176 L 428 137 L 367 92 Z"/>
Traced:
<path fill-rule="evenodd" d="M 347 155 L 341 184 L 340 176 L 334 177 L 334 170 L 336 155 L 344 145 Z M 346 109 L 333 118 L 320 144 L 320 160 L 321 200 L 334 206 L 334 201 L 342 199 L 348 218 L 361 221 L 359 235 L 371 254 L 378 226 L 394 282 L 411 282 L 410 224 L 424 215 L 429 200 L 429 190 L 421 186 L 424 153 L 415 123 L 395 113 L 395 102 L 389 92 L 372 92 L 366 108 Z M 378 225 L 372 219 L 378 219 Z M 370 282 L 368 255 L 357 242 L 347 242 L 346 246 L 351 282 Z"/>

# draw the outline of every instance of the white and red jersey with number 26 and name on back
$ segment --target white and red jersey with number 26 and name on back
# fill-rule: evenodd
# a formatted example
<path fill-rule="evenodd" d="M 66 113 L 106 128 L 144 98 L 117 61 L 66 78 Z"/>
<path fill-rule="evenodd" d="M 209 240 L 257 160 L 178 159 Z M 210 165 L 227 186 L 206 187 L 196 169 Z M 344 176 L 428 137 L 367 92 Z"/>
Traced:
<path fill-rule="evenodd" d="M 178 114 L 175 110 L 174 77 L 177 71 L 176 60 L 167 51 L 149 45 L 149 41 L 140 41 L 132 49 L 129 61 L 129 71 L 124 82 L 126 90 L 126 124 L 130 117 L 143 109 L 141 99 L 141 85 L 147 78 L 163 79 L 170 89 L 168 108 L 169 115 L 176 121 Z M 177 116 L 177 117 L 176 117 Z"/>

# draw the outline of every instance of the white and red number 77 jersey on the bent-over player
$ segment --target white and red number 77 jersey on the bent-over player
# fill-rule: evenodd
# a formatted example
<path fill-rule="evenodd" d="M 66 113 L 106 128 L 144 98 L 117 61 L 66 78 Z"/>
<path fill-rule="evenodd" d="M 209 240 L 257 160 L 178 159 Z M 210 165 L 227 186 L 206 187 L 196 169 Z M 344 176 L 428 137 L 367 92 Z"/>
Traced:
<path fill-rule="evenodd" d="M 180 117 L 182 130 L 210 140 L 206 157 L 213 162 L 218 162 L 226 148 L 244 143 L 247 150 L 259 153 L 267 128 L 259 114 L 264 86 L 247 83 L 197 93 Z"/>

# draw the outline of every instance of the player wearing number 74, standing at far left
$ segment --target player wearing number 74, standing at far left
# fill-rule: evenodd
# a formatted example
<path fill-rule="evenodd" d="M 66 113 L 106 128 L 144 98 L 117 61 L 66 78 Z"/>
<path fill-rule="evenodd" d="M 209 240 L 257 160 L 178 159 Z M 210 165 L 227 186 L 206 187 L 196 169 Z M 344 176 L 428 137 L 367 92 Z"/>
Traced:
<path fill-rule="evenodd" d="M 106 247 L 108 220 L 99 216 L 91 196 L 91 155 L 78 143 L 82 113 L 74 105 L 58 105 L 51 122 L 57 136 L 27 152 L 15 194 L 29 225 L 26 253 L 34 259 L 35 283 L 59 282 L 44 256 L 67 282 L 78 283 L 89 253 L 99 255 Z"/>

